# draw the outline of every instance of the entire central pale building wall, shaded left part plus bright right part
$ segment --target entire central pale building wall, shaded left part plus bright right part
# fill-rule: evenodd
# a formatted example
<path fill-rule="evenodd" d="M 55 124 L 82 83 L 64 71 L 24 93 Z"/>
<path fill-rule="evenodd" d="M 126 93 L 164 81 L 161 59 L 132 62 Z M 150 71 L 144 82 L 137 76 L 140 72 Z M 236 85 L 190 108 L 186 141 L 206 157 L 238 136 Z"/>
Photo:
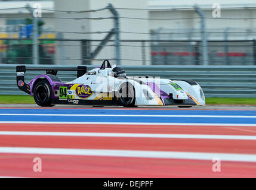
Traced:
<path fill-rule="evenodd" d="M 147 0 L 130 0 L 130 1 L 120 1 L 120 0 L 101 0 L 101 1 L 93 1 L 93 0 L 55 0 L 54 9 L 61 10 L 76 10 L 76 11 L 85 11 L 88 9 L 99 9 L 106 7 L 109 3 L 113 5 L 115 8 L 147 8 Z M 148 18 L 148 11 L 128 11 L 118 9 L 119 15 L 121 17 L 140 17 L 140 18 Z M 97 12 L 90 12 L 89 14 L 69 14 L 69 13 L 55 13 L 55 17 L 70 17 L 74 15 L 74 17 L 90 17 L 90 18 L 98 18 L 98 17 L 112 17 L 113 15 L 110 13 L 108 9 Z M 147 20 L 126 20 L 120 19 L 120 31 L 127 32 L 141 32 L 141 33 L 149 33 L 149 23 Z M 55 29 L 57 31 L 79 31 L 79 32 L 97 32 L 97 31 L 110 31 L 114 27 L 113 19 L 107 20 L 58 20 L 55 19 Z M 103 34 L 64 34 L 64 38 L 69 39 L 94 39 L 94 40 L 102 40 L 107 35 L 107 33 Z M 147 40 L 150 38 L 149 34 L 131 34 L 131 33 L 120 33 L 120 40 Z M 112 37 L 112 40 L 115 38 Z M 92 43 L 91 50 L 93 51 L 98 43 Z M 74 43 L 72 43 L 74 44 Z M 109 42 L 108 45 L 112 45 L 113 42 Z M 76 44 L 78 45 L 78 44 Z M 122 43 L 121 43 L 122 45 Z M 129 61 L 122 60 L 121 64 L 125 65 L 141 65 L 142 59 L 142 51 L 140 47 L 127 47 L 124 45 L 132 45 L 132 46 L 140 46 L 141 43 L 124 43 L 121 46 L 121 59 L 135 59 L 139 61 Z M 147 45 L 149 46 L 149 45 Z M 57 50 L 57 59 L 60 60 L 60 48 Z M 67 59 L 80 59 L 81 52 L 79 47 L 73 47 L 72 49 L 68 47 L 64 47 L 62 52 L 65 52 L 64 58 Z M 147 47 L 146 49 L 146 59 L 150 59 L 150 49 Z M 63 53 L 62 53 L 63 54 Z M 61 59 L 64 59 L 61 58 Z M 104 47 L 98 56 L 95 59 L 113 59 L 115 58 L 115 47 L 107 46 Z M 59 62 L 59 61 L 58 61 Z M 65 62 L 65 61 L 64 61 Z M 66 60 L 67 62 L 67 60 Z M 72 64 L 80 64 L 81 61 L 69 61 Z M 92 64 L 99 65 L 102 61 L 93 61 Z M 115 63 L 115 61 L 112 61 Z M 150 64 L 150 62 L 148 62 Z"/>

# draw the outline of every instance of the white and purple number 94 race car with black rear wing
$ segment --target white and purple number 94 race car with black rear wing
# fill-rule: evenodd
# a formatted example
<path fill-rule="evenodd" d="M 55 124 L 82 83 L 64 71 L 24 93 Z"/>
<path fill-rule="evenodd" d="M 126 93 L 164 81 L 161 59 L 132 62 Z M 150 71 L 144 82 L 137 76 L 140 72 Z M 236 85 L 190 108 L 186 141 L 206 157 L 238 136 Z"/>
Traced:
<path fill-rule="evenodd" d="M 106 66 L 107 62 L 107 66 Z M 25 83 L 26 71 L 46 71 Z M 62 83 L 58 71 L 77 71 L 77 78 Z M 86 66 L 77 69 L 31 69 L 16 67 L 17 85 L 33 96 L 39 106 L 165 106 L 192 107 L 205 105 L 202 88 L 193 80 L 169 80 L 160 77 L 128 77 L 124 68 L 103 64 L 87 72 Z"/>

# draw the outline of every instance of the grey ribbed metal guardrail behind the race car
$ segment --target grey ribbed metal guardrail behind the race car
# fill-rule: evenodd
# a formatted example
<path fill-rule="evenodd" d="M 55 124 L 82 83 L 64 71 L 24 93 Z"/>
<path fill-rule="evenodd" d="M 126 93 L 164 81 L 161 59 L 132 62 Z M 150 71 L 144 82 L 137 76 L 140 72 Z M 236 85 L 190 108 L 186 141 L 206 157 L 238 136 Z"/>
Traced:
<path fill-rule="evenodd" d="M 70 65 L 27 65 L 30 68 L 75 68 Z M 88 70 L 94 65 L 87 65 Z M 192 79 L 201 85 L 206 97 L 256 97 L 256 66 L 124 66 L 127 75 L 169 79 Z M 27 71 L 26 82 L 42 71 Z M 76 78 L 76 72 L 59 71 L 63 82 Z M 16 65 L 0 65 L 0 94 L 23 94 L 16 84 Z"/>

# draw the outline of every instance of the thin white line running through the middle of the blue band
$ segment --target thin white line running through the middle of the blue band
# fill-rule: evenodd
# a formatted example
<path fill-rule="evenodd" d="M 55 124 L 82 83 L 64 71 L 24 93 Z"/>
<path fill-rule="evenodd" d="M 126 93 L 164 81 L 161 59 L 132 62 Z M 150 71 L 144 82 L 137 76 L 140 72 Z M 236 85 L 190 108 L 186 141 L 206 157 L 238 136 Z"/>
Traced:
<path fill-rule="evenodd" d="M 245 115 L 110 115 L 110 114 L 34 114 L 0 113 L 0 116 L 81 116 L 81 117 L 154 117 L 154 118 L 256 118 Z"/>

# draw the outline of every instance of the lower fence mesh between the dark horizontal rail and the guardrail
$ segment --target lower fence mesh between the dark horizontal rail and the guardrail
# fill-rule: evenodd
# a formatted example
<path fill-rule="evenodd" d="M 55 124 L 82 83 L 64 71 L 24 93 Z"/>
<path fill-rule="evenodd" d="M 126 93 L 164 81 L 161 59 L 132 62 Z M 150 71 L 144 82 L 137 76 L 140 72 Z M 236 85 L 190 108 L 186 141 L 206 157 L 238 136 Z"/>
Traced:
<path fill-rule="evenodd" d="M 115 63 L 115 42 L 104 45 L 104 56 L 90 58 L 91 53 L 100 46 L 100 40 L 39 40 L 39 64 L 84 64 L 100 65 L 104 59 Z M 4 39 L 0 47 L 2 64 L 33 64 L 32 42 L 30 39 Z M 201 41 L 186 40 L 121 40 L 121 51 L 128 56 L 120 59 L 123 65 L 201 65 Z M 63 56 L 55 58 L 55 49 L 60 48 Z M 79 50 L 81 57 L 65 56 L 69 49 Z M 256 65 L 256 40 L 209 41 L 209 65 Z M 149 52 L 150 51 L 150 52 Z M 150 57 L 146 56 L 150 53 Z M 106 54 L 106 55 L 105 55 Z"/>

